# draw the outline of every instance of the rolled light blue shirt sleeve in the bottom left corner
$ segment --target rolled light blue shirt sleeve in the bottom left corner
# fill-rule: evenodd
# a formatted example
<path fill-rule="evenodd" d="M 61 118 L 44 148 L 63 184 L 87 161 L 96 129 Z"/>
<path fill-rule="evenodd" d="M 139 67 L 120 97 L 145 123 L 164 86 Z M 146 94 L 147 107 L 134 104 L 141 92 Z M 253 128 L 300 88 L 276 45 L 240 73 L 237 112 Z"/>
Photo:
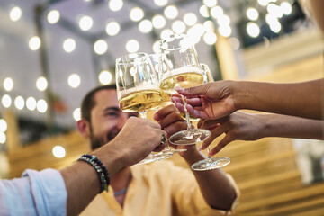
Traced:
<path fill-rule="evenodd" d="M 0 181 L 0 215 L 67 215 L 67 189 L 55 169 L 27 169 Z"/>

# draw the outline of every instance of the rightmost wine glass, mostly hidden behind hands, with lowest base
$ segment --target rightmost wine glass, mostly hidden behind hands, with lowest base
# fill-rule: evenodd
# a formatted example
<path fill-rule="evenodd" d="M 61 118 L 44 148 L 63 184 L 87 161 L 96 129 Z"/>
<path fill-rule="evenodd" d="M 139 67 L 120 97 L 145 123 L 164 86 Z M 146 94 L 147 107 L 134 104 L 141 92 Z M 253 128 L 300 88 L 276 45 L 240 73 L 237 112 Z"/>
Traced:
<path fill-rule="evenodd" d="M 211 70 L 206 64 L 201 63 L 202 70 L 204 71 L 203 75 L 203 83 L 213 82 L 213 78 L 211 76 Z M 210 148 L 207 147 L 207 155 L 210 151 Z M 230 163 L 229 157 L 211 157 L 208 155 L 206 159 L 200 160 L 194 163 L 191 168 L 195 171 L 205 171 L 211 170 L 215 168 L 220 168 L 222 166 L 227 166 Z"/>

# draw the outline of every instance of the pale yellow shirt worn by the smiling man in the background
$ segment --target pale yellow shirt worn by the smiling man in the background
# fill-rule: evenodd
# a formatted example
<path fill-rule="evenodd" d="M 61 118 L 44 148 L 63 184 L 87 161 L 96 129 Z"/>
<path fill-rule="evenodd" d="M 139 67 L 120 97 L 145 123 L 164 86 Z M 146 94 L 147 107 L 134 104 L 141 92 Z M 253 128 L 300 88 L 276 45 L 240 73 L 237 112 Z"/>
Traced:
<path fill-rule="evenodd" d="M 112 187 L 94 198 L 81 213 L 109 216 L 201 216 L 229 215 L 230 211 L 211 209 L 204 201 L 193 173 L 184 167 L 174 166 L 170 161 L 160 161 L 148 165 L 131 166 L 132 179 L 124 200 L 123 208 L 113 196 Z M 227 175 L 239 196 L 238 187 Z"/>

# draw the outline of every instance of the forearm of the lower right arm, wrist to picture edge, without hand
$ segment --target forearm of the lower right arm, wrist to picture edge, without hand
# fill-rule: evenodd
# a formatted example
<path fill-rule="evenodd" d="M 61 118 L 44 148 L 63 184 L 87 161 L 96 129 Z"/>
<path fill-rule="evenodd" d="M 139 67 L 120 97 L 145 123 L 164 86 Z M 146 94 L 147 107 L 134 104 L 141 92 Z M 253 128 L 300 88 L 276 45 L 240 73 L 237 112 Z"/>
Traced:
<path fill-rule="evenodd" d="M 261 137 L 323 139 L 324 121 L 280 114 L 259 114 Z"/>

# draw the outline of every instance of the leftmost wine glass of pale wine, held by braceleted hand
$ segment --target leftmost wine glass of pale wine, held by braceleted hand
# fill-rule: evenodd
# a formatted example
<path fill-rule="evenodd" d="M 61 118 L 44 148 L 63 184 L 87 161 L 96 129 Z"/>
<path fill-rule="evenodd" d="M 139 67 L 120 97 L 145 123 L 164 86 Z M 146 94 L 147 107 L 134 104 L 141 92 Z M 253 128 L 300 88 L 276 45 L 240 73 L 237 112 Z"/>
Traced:
<path fill-rule="evenodd" d="M 148 54 L 143 52 L 128 54 L 116 59 L 116 88 L 121 110 L 139 112 L 143 119 L 147 118 L 149 109 L 154 109 L 162 102 L 157 75 Z M 171 154 L 151 152 L 139 164 L 171 156 Z"/>

